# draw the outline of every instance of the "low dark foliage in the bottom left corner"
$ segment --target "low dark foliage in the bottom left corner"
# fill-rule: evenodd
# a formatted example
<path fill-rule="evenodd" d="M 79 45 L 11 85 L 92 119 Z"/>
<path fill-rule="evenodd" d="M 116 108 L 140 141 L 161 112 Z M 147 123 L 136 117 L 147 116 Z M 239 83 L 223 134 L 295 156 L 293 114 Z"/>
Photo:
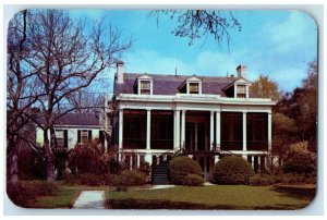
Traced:
<path fill-rule="evenodd" d="M 55 182 L 19 182 L 15 186 L 7 185 L 9 198 L 17 206 L 28 208 L 37 196 L 53 196 L 58 191 Z"/>

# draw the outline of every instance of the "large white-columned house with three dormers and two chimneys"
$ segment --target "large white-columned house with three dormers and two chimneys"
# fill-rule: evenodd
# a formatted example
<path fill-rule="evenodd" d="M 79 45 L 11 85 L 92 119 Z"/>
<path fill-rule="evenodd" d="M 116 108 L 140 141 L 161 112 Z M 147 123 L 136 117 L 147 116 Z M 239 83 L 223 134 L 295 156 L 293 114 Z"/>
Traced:
<path fill-rule="evenodd" d="M 255 170 L 271 150 L 271 99 L 250 93 L 246 66 L 230 76 L 125 73 L 117 63 L 112 144 L 131 168 L 175 155 L 198 161 L 206 180 L 214 164 L 238 155 Z"/>

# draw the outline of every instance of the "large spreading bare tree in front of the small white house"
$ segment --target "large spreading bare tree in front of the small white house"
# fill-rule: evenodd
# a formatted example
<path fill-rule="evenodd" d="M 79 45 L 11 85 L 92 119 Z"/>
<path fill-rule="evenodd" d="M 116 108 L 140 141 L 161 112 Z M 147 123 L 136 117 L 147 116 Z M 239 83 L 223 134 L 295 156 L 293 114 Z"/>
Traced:
<path fill-rule="evenodd" d="M 48 180 L 55 179 L 56 135 L 53 124 L 74 111 L 71 97 L 101 77 L 130 49 L 132 41 L 122 41 L 121 32 L 106 20 L 87 23 L 72 20 L 66 11 L 32 10 L 26 21 L 28 54 L 24 68 L 37 73 L 35 85 L 40 109 L 35 123 L 44 131 L 44 150 Z M 50 136 L 48 134 L 50 133 Z"/>

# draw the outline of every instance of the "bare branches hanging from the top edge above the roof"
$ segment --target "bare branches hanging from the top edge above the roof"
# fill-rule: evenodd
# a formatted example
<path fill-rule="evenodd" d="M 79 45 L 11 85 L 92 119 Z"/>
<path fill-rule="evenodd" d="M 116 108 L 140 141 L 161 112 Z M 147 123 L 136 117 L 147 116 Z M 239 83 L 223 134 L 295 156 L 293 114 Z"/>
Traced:
<path fill-rule="evenodd" d="M 175 20 L 178 25 L 172 30 L 177 37 L 189 38 L 189 46 L 202 36 L 213 36 L 218 44 L 221 44 L 225 37 L 227 44 L 231 35 L 229 30 L 237 28 L 241 32 L 241 24 L 230 11 L 221 10 L 155 10 L 149 16 L 157 17 L 159 15 L 168 15 L 171 20 Z"/>

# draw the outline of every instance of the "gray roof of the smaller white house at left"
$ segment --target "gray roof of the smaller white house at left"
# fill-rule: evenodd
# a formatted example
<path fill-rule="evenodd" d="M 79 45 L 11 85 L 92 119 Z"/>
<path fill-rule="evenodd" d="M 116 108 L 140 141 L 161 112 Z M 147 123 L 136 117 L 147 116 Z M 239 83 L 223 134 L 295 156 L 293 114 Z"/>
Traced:
<path fill-rule="evenodd" d="M 94 113 L 68 113 L 55 123 L 58 125 L 99 126 L 99 118 Z"/>

